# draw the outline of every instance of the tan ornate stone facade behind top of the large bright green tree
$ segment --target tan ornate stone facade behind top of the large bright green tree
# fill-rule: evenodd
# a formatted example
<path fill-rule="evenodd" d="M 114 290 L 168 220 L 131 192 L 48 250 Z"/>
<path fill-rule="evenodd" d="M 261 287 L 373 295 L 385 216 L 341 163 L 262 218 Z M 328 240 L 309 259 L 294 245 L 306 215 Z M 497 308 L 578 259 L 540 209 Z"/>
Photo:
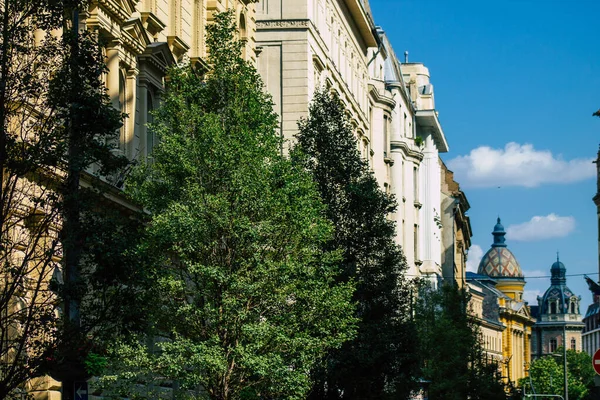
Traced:
<path fill-rule="evenodd" d="M 115 108 L 126 113 L 120 151 L 131 159 L 147 157 L 155 138 L 146 125 L 158 107 L 169 66 L 190 62 L 206 68 L 205 28 L 215 12 L 233 9 L 244 57 L 256 62 L 253 0 L 92 0 L 80 16 L 80 29 L 96 32 L 106 56 L 105 83 Z M 115 201 L 119 201 L 114 197 Z M 36 399 L 60 399 L 60 382 L 33 380 Z M 90 398 L 93 398 L 91 396 Z"/>

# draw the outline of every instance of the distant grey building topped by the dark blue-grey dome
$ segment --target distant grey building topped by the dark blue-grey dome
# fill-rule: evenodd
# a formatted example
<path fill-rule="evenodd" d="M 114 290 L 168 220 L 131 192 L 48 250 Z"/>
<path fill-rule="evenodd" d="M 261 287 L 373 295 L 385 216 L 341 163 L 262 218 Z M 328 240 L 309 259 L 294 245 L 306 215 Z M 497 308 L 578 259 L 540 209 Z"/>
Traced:
<path fill-rule="evenodd" d="M 531 356 L 533 358 L 552 354 L 558 347 L 581 351 L 581 331 L 584 324 L 579 311 L 581 297 L 567 287 L 565 265 L 556 258 L 550 272 L 550 287 L 542 297 L 537 298 L 538 306 L 532 307 L 537 318 L 531 335 Z"/>

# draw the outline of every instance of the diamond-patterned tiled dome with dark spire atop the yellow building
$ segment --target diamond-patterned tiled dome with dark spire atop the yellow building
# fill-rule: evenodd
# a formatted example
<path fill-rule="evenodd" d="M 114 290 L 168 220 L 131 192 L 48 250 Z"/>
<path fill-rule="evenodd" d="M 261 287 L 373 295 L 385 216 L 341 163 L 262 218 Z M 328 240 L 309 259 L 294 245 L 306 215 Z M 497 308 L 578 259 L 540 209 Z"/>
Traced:
<path fill-rule="evenodd" d="M 504 226 L 500 218 L 494 226 L 494 243 L 479 262 L 477 273 L 492 278 L 517 278 L 523 279 L 523 271 L 514 254 L 506 247 Z"/>

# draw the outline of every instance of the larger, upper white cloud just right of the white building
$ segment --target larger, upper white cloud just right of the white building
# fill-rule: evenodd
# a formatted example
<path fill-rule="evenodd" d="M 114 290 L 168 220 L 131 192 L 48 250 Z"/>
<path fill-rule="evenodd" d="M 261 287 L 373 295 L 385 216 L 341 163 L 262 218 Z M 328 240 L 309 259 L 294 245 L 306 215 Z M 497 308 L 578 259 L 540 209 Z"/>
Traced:
<path fill-rule="evenodd" d="M 461 185 L 468 187 L 525 186 L 570 183 L 594 177 L 592 158 L 563 160 L 531 144 L 508 143 L 504 149 L 481 146 L 447 165 Z"/>

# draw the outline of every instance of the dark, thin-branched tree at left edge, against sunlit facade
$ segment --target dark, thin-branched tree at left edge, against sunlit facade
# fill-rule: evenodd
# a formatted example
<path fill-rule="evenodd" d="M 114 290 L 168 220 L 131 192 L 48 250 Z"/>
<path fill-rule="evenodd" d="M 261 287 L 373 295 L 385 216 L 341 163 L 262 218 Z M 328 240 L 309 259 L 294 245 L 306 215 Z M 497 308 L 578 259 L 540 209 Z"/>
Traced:
<path fill-rule="evenodd" d="M 122 292 L 135 292 L 135 273 L 120 256 L 135 224 L 107 219 L 102 196 L 127 163 L 113 151 L 122 116 L 109 104 L 95 38 L 69 28 L 86 6 L 0 7 L 1 398 L 65 363 L 83 370 L 98 338 L 132 327 Z M 85 318 L 71 320 L 69 308 Z"/>

